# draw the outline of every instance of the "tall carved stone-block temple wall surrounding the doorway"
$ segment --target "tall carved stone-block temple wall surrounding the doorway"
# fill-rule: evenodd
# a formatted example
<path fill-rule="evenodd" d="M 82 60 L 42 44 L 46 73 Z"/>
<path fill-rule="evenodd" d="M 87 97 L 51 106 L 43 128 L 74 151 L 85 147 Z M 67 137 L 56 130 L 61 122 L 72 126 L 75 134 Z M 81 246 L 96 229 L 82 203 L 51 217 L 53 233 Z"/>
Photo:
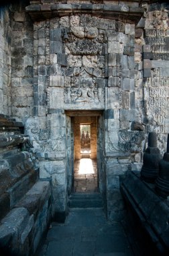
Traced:
<path fill-rule="evenodd" d="M 40 178 L 52 179 L 53 216 L 67 211 L 71 190 L 73 129 L 66 110 L 93 110 L 103 113 L 97 143 L 100 189 L 108 217 L 121 218 L 121 177 L 141 169 L 150 131 L 157 131 L 165 151 L 168 63 L 166 3 L 12 5 L 9 106 L 25 123 Z"/>

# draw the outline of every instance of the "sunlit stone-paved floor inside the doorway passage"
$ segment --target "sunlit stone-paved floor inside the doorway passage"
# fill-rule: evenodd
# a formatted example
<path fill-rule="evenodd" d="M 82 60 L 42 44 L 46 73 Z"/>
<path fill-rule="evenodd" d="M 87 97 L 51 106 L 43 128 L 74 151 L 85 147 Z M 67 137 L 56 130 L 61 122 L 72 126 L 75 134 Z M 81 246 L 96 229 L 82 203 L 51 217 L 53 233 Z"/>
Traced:
<path fill-rule="evenodd" d="M 97 160 L 74 160 L 74 192 L 97 192 Z"/>

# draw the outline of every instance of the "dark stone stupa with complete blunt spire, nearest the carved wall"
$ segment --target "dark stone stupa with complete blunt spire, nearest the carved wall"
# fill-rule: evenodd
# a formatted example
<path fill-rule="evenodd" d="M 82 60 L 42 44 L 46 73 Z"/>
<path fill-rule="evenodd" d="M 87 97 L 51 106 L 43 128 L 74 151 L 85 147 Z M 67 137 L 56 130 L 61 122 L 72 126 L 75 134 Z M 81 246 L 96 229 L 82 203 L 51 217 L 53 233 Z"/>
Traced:
<path fill-rule="evenodd" d="M 155 132 L 148 135 L 148 148 L 144 152 L 141 178 L 148 182 L 154 183 L 158 177 L 159 162 L 162 159 L 160 150 L 157 148 L 157 136 Z"/>

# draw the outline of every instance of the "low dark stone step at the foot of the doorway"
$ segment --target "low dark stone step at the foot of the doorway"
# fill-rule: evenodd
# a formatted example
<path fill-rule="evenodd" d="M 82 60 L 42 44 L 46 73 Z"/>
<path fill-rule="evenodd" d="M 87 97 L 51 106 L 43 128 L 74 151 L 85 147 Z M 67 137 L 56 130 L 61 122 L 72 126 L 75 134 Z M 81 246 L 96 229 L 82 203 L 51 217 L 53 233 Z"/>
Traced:
<path fill-rule="evenodd" d="M 99 193 L 73 193 L 68 205 L 70 208 L 103 208 L 103 199 Z"/>

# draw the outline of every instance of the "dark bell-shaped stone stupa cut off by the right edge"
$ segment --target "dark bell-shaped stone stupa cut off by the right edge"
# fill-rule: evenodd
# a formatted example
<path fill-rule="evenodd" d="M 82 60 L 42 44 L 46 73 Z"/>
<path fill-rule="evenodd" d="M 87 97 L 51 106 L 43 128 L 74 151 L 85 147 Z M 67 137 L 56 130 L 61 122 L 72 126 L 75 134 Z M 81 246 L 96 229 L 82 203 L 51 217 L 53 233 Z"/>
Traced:
<path fill-rule="evenodd" d="M 159 175 L 156 180 L 156 191 L 162 197 L 169 195 L 169 135 L 167 141 L 167 152 L 159 163 Z"/>

